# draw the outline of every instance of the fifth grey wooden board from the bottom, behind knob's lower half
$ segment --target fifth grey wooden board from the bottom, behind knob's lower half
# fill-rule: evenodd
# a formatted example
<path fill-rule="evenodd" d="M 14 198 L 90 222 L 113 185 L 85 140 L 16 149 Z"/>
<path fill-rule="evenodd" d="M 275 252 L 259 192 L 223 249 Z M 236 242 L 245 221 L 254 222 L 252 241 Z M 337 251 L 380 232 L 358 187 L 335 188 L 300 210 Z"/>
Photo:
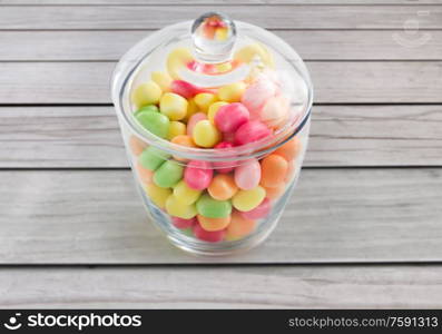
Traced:
<path fill-rule="evenodd" d="M 274 30 L 305 60 L 441 60 L 442 31 L 424 31 L 431 39 L 415 47 L 397 42 L 390 30 Z M 150 35 L 130 31 L 0 31 L 0 61 L 118 60 Z M 418 37 L 418 36 L 416 36 Z M 418 37 L 419 38 L 419 37 Z M 411 40 L 419 39 L 412 38 Z"/>

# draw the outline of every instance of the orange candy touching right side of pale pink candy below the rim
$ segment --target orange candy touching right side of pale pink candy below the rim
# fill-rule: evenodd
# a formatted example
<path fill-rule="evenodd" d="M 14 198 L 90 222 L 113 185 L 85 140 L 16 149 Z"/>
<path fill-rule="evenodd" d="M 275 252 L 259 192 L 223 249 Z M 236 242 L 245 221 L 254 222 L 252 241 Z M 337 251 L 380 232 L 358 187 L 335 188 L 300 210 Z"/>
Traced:
<path fill-rule="evenodd" d="M 261 161 L 261 185 L 264 187 L 277 187 L 284 184 L 287 175 L 288 163 L 282 156 L 269 155 Z"/>

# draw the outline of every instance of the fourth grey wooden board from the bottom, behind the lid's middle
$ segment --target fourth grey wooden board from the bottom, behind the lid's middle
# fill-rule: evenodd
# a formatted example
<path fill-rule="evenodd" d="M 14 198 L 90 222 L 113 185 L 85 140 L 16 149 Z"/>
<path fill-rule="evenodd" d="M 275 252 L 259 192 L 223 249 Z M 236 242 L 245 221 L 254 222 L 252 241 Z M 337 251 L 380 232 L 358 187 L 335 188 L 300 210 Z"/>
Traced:
<path fill-rule="evenodd" d="M 115 66 L 0 62 L 0 104 L 109 104 Z M 307 67 L 315 102 L 442 102 L 442 61 L 313 61 Z"/>

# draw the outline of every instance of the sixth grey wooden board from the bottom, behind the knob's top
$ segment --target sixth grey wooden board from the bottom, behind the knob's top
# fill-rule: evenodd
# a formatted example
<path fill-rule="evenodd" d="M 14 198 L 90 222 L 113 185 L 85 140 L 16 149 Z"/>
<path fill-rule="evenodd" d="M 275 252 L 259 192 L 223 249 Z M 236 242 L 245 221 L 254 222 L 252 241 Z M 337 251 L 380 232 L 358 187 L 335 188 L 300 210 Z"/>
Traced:
<path fill-rule="evenodd" d="M 421 29 L 442 28 L 442 7 L 425 6 L 6 6 L 0 29 L 149 29 L 194 20 L 214 9 L 264 28 L 403 29 L 419 19 Z M 428 14 L 418 16 L 418 11 Z"/>

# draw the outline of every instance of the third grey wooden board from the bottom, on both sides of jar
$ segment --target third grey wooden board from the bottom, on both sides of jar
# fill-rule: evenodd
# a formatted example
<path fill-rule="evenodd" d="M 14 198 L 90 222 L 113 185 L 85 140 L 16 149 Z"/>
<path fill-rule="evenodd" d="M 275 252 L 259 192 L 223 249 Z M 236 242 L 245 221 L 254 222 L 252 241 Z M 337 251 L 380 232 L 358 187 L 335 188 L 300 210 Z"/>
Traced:
<path fill-rule="evenodd" d="M 442 166 L 441 106 L 313 108 L 305 166 Z M 0 108 L 0 168 L 128 167 L 112 107 Z"/>

